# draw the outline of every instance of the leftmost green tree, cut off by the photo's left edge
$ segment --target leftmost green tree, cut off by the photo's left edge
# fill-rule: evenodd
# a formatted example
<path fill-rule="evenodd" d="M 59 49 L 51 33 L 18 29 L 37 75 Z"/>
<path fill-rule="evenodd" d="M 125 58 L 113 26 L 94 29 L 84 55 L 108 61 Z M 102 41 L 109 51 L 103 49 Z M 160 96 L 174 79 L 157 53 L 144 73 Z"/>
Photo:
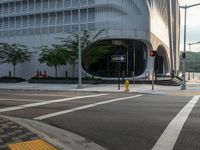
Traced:
<path fill-rule="evenodd" d="M 17 64 L 29 61 L 32 53 L 22 44 L 0 43 L 0 63 L 11 64 L 14 77 Z"/>

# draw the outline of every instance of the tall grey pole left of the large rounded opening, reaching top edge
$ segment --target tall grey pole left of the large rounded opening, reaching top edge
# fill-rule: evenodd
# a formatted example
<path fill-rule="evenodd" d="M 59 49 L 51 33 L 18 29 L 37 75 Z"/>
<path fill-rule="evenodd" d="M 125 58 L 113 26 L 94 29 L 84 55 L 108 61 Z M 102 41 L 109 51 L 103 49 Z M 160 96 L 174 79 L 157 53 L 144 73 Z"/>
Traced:
<path fill-rule="evenodd" d="M 82 88 L 82 77 L 81 77 L 81 10 L 80 10 L 80 0 L 78 0 L 78 86 L 77 88 Z"/>

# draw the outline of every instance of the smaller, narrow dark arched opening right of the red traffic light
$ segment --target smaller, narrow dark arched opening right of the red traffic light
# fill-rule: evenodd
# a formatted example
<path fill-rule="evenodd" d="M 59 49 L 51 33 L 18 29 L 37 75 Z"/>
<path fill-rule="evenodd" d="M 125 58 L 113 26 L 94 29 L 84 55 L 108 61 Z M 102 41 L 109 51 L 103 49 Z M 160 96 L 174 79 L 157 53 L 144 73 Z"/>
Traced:
<path fill-rule="evenodd" d="M 159 46 L 157 49 L 157 55 L 155 57 L 155 73 L 165 74 L 169 72 L 169 63 L 164 46 Z"/>

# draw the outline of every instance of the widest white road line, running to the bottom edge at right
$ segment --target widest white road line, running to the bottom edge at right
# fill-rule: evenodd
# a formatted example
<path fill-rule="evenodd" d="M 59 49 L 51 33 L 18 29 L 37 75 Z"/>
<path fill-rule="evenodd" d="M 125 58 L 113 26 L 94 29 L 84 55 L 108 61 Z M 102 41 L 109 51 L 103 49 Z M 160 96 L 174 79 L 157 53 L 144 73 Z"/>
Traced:
<path fill-rule="evenodd" d="M 152 150 L 173 150 L 178 136 L 200 96 L 194 96 L 169 123 Z"/>

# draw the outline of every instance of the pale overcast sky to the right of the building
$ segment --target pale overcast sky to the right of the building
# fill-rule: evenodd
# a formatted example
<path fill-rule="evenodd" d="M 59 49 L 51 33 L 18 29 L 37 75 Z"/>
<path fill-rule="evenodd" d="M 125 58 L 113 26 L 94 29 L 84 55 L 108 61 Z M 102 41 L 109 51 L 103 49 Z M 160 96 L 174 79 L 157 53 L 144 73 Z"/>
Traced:
<path fill-rule="evenodd" d="M 179 0 L 180 5 L 200 3 L 200 0 Z M 200 6 L 187 9 L 187 43 L 200 41 Z M 183 50 L 184 11 L 181 10 L 181 51 Z M 200 52 L 200 44 L 193 45 L 192 51 Z M 187 50 L 189 47 L 187 46 Z"/>

